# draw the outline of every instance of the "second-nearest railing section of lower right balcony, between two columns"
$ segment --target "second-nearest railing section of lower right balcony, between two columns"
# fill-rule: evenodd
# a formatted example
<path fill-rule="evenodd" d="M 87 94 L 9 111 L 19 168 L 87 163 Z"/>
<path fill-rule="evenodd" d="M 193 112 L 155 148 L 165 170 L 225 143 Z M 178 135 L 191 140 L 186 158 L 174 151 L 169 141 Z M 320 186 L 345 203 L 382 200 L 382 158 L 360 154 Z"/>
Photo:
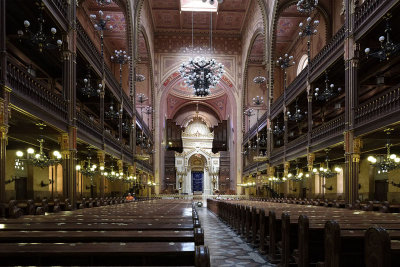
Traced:
<path fill-rule="evenodd" d="M 344 114 L 330 120 L 311 131 L 311 142 L 320 141 L 342 135 L 344 132 Z"/>

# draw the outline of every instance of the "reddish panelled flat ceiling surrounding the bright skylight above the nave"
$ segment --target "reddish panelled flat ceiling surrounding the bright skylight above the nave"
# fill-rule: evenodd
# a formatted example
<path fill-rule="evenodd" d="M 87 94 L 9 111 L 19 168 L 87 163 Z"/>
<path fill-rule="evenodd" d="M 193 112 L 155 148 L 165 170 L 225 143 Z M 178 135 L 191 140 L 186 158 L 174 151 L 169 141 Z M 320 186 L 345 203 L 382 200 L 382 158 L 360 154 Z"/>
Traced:
<path fill-rule="evenodd" d="M 181 3 L 182 1 L 182 3 Z M 156 31 L 190 30 L 192 28 L 192 12 L 181 11 L 192 0 L 150 0 L 152 19 Z M 250 0 L 224 1 L 217 7 L 218 12 L 212 13 L 213 29 L 217 32 L 240 33 L 246 17 Z M 211 25 L 210 12 L 193 12 L 193 28 L 208 30 Z"/>

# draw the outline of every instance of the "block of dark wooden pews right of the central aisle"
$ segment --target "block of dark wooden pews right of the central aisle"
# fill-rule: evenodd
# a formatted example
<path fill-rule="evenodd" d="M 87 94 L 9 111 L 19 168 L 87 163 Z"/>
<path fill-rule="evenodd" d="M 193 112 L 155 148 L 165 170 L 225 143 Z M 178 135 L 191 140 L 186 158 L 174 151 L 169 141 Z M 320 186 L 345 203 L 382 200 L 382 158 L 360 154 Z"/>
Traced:
<path fill-rule="evenodd" d="M 277 199 L 209 199 L 207 206 L 280 266 L 400 266 L 397 213 Z"/>

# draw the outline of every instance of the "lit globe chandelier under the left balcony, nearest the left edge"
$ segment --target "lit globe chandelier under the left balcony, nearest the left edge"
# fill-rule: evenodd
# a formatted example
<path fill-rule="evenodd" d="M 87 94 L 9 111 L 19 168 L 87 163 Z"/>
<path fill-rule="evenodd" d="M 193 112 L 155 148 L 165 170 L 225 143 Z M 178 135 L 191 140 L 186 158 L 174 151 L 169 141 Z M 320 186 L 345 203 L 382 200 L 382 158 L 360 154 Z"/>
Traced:
<path fill-rule="evenodd" d="M 26 158 L 23 158 L 24 152 L 17 151 L 17 158 L 15 159 L 15 166 L 22 166 L 23 162 L 35 167 L 45 168 L 61 163 L 61 153 L 57 150 L 53 151 L 52 157 L 48 157 L 43 151 L 44 139 L 40 138 L 37 140 L 39 142 L 39 152 L 35 153 L 33 148 L 28 148 L 26 150 Z"/>

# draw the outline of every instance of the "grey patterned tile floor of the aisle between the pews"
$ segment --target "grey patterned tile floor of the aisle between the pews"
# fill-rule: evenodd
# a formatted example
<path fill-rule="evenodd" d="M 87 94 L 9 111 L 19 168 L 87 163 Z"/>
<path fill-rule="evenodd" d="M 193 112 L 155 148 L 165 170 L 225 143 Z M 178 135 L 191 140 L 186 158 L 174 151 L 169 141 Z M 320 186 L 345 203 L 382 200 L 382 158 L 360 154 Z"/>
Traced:
<path fill-rule="evenodd" d="M 210 250 L 211 266 L 266 266 L 272 267 L 265 257 L 251 248 L 234 231 L 207 208 L 197 208 L 204 229 L 204 242 Z"/>

